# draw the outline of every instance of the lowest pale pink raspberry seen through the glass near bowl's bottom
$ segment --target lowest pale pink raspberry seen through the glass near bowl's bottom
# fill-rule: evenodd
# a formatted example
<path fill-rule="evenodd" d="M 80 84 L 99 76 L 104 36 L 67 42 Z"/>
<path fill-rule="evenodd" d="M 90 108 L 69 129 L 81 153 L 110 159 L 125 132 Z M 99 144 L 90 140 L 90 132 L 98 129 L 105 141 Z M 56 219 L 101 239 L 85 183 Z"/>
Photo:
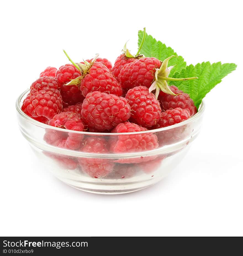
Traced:
<path fill-rule="evenodd" d="M 88 165 L 81 164 L 81 167 L 85 173 L 92 178 L 102 178 L 113 171 L 114 163 L 105 164 L 93 164 Z"/>

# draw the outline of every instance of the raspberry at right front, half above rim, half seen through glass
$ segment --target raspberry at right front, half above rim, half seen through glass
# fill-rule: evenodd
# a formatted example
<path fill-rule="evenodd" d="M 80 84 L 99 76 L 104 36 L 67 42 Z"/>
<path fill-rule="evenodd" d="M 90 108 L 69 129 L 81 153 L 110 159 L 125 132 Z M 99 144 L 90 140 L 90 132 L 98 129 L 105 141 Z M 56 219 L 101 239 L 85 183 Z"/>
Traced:
<path fill-rule="evenodd" d="M 153 126 L 153 129 L 171 126 L 178 124 L 190 117 L 189 112 L 186 109 L 179 107 L 175 109 L 168 109 L 162 112 L 159 122 Z M 179 142 L 184 139 L 189 132 L 189 127 L 180 126 L 173 129 L 158 132 L 158 139 L 160 146 L 170 145 L 175 142 Z"/>

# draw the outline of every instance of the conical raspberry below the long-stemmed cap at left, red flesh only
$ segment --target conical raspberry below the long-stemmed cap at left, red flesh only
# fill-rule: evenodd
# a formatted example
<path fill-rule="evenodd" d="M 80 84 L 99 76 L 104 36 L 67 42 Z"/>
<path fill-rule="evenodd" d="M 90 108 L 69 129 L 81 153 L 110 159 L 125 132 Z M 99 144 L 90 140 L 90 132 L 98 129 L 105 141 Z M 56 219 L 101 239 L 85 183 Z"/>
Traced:
<path fill-rule="evenodd" d="M 93 91 L 100 91 L 101 93 L 109 93 L 121 96 L 121 86 L 114 78 L 109 69 L 99 63 L 95 62 L 81 80 L 80 90 L 85 97 L 88 93 Z"/>

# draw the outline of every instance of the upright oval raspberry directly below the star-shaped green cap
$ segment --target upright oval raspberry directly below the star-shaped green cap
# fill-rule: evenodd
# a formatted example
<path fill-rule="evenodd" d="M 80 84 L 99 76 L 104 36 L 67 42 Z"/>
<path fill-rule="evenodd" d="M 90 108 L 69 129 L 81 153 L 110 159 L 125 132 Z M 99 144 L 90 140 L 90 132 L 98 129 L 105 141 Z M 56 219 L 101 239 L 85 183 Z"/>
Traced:
<path fill-rule="evenodd" d="M 161 116 L 160 103 L 145 86 L 136 86 L 126 94 L 131 107 L 130 121 L 144 127 L 154 126 Z"/>

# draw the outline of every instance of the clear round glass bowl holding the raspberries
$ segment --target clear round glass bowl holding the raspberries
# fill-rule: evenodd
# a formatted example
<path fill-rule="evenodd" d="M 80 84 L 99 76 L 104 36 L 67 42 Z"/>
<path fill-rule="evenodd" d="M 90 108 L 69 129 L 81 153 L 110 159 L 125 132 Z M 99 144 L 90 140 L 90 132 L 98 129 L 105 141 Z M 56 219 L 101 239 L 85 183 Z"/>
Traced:
<path fill-rule="evenodd" d="M 191 142 L 199 134 L 204 102 L 199 111 L 173 126 L 131 133 L 77 132 L 48 126 L 28 117 L 22 110 L 29 90 L 16 101 L 20 131 L 28 140 L 43 169 L 49 169 L 59 180 L 74 188 L 99 194 L 120 194 L 141 190 L 162 180 L 183 159 Z M 87 153 L 82 149 L 57 147 L 53 138 L 74 136 L 82 144 L 98 139 L 108 146 L 118 139 L 153 141 L 156 149 L 122 153 Z"/>

